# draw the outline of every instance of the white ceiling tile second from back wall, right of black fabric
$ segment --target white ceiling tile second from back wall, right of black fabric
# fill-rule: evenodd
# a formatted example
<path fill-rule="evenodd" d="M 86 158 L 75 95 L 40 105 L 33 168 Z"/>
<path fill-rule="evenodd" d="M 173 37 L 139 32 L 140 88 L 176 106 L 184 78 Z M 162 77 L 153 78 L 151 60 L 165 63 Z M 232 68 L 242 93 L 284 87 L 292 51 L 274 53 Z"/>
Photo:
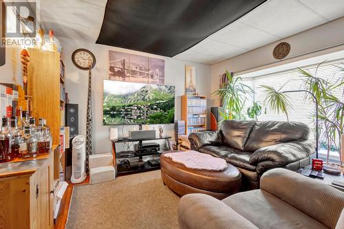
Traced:
<path fill-rule="evenodd" d="M 230 58 L 248 51 L 244 48 L 235 47 L 233 45 L 228 45 L 221 41 L 214 41 L 209 38 L 197 43 L 197 45 L 191 47 L 191 50 L 223 58 Z"/>

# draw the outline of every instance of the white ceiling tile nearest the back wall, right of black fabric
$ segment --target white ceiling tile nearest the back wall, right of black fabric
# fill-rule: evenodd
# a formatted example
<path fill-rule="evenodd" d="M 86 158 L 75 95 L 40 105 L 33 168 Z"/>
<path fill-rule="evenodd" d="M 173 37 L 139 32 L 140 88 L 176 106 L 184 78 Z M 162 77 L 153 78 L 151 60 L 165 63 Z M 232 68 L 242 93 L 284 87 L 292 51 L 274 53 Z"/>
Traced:
<path fill-rule="evenodd" d="M 182 61 L 193 61 L 197 63 L 204 63 L 207 65 L 212 65 L 214 63 L 226 60 L 226 58 L 213 56 L 209 54 L 203 54 L 203 53 L 195 52 L 192 50 L 186 50 L 185 52 L 182 52 L 178 55 L 173 56 L 173 58 L 177 58 Z"/>

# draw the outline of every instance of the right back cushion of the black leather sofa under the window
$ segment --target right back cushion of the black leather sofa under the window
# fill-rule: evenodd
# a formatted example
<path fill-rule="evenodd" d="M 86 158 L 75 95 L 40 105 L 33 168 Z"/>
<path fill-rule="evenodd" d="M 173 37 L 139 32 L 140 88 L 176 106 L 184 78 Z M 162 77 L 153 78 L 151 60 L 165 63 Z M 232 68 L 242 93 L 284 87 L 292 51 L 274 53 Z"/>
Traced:
<path fill-rule="evenodd" d="M 293 140 L 305 140 L 309 135 L 309 127 L 302 122 L 257 122 L 250 132 L 244 149 L 253 152 L 265 146 Z"/>

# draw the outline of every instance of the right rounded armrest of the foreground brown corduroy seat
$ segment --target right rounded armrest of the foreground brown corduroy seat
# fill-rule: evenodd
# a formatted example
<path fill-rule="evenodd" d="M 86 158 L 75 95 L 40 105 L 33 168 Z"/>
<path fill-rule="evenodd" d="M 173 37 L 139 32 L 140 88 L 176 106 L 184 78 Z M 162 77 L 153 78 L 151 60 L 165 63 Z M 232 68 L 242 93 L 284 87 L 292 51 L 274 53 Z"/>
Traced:
<path fill-rule="evenodd" d="M 274 168 L 264 173 L 260 188 L 328 228 L 335 228 L 344 208 L 343 192 L 286 168 Z"/>

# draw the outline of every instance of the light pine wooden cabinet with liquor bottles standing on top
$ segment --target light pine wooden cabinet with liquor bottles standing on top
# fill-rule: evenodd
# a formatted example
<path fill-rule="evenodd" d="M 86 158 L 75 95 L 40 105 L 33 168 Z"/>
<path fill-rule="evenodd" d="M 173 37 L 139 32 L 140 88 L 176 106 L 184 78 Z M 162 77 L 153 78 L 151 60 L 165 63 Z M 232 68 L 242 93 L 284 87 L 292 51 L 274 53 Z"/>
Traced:
<path fill-rule="evenodd" d="M 53 228 L 54 156 L 0 164 L 0 228 Z"/>

